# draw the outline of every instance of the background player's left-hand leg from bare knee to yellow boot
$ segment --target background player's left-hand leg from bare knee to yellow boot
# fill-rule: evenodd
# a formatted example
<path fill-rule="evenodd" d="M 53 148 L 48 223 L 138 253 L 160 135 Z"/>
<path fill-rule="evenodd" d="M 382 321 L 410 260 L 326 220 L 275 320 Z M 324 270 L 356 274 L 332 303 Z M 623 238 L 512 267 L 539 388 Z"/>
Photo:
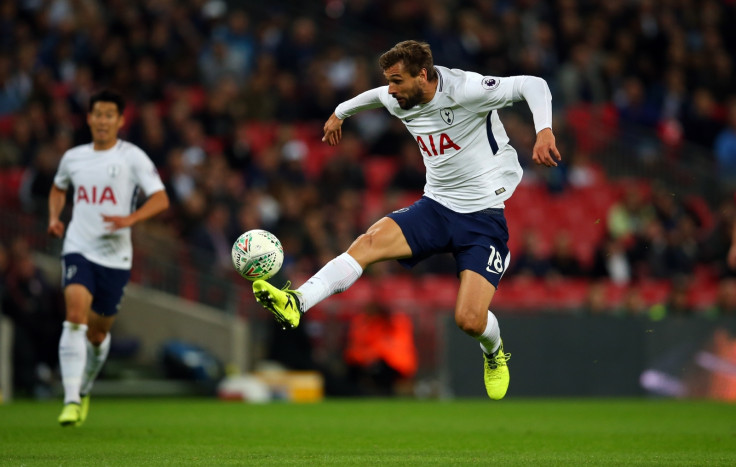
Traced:
<path fill-rule="evenodd" d="M 92 293 L 81 284 L 64 287 L 66 321 L 59 339 L 59 366 L 64 388 L 64 409 L 59 415 L 62 426 L 75 425 L 80 417 L 80 388 L 86 363 L 87 313 Z"/>

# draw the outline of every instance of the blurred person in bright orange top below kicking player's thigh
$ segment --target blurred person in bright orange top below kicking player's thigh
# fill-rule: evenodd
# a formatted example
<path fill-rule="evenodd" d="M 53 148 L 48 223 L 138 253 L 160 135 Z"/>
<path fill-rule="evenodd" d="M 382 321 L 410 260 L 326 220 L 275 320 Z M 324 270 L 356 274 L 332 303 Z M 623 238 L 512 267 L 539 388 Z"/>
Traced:
<path fill-rule="evenodd" d="M 408 316 L 371 302 L 350 321 L 345 362 L 362 395 L 390 396 L 396 383 L 417 371 L 414 331 Z"/>

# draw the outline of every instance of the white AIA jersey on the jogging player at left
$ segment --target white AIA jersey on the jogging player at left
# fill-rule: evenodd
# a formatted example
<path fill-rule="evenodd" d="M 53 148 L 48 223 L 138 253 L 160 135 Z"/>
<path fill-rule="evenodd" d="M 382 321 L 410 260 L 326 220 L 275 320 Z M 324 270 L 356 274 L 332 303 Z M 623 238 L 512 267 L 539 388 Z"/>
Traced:
<path fill-rule="evenodd" d="M 122 140 L 106 151 L 95 151 L 92 144 L 77 146 L 64 153 L 54 184 L 62 190 L 70 184 L 74 187 L 72 219 L 62 254 L 79 253 L 101 266 L 130 269 L 130 228 L 110 232 L 102 215 L 127 216 L 133 212 L 138 187 L 146 196 L 164 189 L 146 153 Z"/>

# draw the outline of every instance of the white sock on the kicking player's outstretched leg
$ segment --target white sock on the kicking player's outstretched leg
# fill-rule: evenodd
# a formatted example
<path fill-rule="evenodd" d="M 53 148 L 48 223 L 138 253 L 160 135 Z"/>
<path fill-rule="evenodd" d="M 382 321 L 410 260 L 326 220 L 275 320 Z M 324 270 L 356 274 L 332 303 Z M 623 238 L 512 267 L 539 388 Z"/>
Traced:
<path fill-rule="evenodd" d="M 325 264 L 317 274 L 297 289 L 297 292 L 302 294 L 302 312 L 306 312 L 332 294 L 347 290 L 361 274 L 363 268 L 347 253 Z"/>

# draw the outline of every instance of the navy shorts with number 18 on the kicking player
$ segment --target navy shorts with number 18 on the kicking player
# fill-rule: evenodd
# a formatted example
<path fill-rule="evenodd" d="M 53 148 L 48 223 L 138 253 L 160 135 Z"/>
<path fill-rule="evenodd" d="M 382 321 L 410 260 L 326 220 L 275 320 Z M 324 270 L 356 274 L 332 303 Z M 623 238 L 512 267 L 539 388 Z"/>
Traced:
<path fill-rule="evenodd" d="M 461 214 L 423 196 L 388 217 L 399 224 L 411 248 L 411 258 L 399 260 L 403 266 L 413 267 L 437 253 L 452 253 L 458 275 L 470 269 L 498 288 L 510 259 L 503 209 Z"/>

